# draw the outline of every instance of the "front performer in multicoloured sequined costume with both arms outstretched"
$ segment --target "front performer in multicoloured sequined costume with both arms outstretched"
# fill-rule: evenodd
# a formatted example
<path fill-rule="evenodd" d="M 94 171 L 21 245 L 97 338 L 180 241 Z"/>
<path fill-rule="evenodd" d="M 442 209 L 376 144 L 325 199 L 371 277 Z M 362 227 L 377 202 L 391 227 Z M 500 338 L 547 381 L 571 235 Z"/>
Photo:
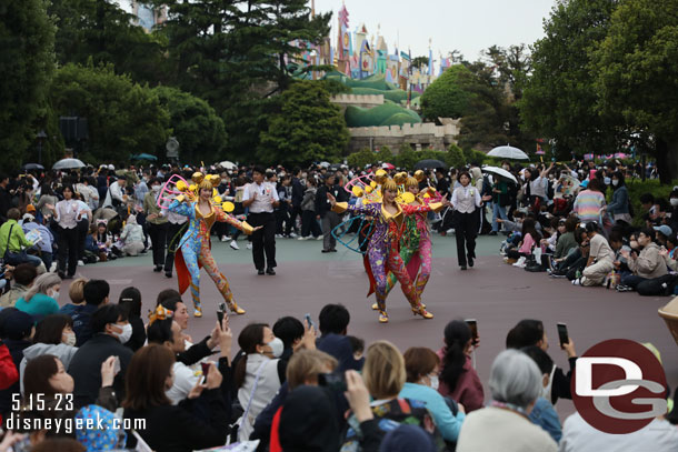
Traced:
<path fill-rule="evenodd" d="M 410 303 L 415 315 L 419 314 L 425 319 L 432 319 L 433 314 L 427 312 L 421 305 L 412 280 L 405 269 L 405 264 L 399 253 L 399 243 L 406 212 L 396 202 L 398 197 L 398 185 L 391 179 L 386 180 L 381 185 L 381 202 L 360 202 L 349 205 L 347 202 L 337 202 L 335 197 L 328 193 L 328 199 L 332 210 L 338 213 L 350 211 L 352 213 L 369 215 L 373 219 L 373 228 L 365 255 L 365 267 L 370 279 L 370 291 L 368 297 L 375 292 L 379 310 L 379 322 L 387 323 L 386 313 L 387 295 L 387 274 L 392 272 L 400 282 L 402 293 Z M 410 205 L 406 208 L 410 214 L 417 212 L 429 212 L 439 210 L 442 203 L 431 203 L 429 205 Z"/>

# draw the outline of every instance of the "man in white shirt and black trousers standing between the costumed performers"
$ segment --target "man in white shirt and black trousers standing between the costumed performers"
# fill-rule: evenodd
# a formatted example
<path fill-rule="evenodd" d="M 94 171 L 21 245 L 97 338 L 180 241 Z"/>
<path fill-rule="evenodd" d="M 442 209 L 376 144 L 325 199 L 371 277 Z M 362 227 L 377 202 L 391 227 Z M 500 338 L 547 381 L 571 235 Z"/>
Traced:
<path fill-rule="evenodd" d="M 248 223 L 262 227 L 252 233 L 252 257 L 259 274 L 276 274 L 276 217 L 273 209 L 280 204 L 276 185 L 263 181 L 265 170 L 255 167 L 253 182 L 247 185 L 242 195 L 242 207 L 249 208 Z M 266 253 L 266 259 L 263 254 Z"/>

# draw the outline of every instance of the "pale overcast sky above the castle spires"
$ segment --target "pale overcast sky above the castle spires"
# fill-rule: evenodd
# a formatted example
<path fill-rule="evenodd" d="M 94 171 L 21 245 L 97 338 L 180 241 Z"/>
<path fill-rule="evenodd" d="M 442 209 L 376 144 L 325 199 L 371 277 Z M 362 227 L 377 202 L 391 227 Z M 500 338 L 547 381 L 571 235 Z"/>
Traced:
<path fill-rule="evenodd" d="M 369 33 L 381 36 L 389 47 L 400 42 L 412 57 L 428 56 L 429 38 L 433 58 L 459 50 L 475 61 L 492 44 L 531 44 L 544 37 L 542 22 L 555 0 L 345 0 L 351 31 L 365 22 Z M 336 46 L 337 11 L 341 0 L 316 0 L 316 11 L 333 11 L 332 46 Z M 375 38 L 375 43 L 377 42 Z M 436 68 L 438 64 L 436 64 Z"/>

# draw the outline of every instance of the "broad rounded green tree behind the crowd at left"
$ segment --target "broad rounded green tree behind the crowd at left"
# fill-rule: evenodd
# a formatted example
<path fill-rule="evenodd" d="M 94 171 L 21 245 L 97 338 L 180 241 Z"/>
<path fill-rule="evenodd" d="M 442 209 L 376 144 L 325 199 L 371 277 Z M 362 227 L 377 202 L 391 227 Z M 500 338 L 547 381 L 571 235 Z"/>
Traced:
<path fill-rule="evenodd" d="M 117 76 L 112 64 L 60 68 L 50 88 L 58 114 L 87 118 L 89 141 L 80 157 L 99 162 L 124 162 L 133 153 L 156 153 L 169 137 L 169 113 L 158 96 Z"/>

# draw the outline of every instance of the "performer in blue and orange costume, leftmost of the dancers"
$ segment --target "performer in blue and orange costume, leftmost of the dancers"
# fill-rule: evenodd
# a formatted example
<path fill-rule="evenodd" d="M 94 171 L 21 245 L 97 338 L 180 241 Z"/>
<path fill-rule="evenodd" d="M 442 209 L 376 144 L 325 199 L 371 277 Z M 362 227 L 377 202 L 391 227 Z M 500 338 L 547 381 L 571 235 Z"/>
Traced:
<path fill-rule="evenodd" d="M 252 228 L 246 221 L 238 221 L 223 211 L 220 199 L 215 195 L 215 187 L 219 185 L 218 175 L 205 177 L 202 173 L 195 173 L 192 177 L 195 187 L 183 187 L 183 194 L 177 197 L 168 207 L 171 212 L 187 217 L 189 219 L 188 230 L 181 238 L 175 254 L 175 265 L 179 279 L 179 292 L 183 293 L 190 285 L 193 299 L 193 315 L 202 317 L 200 307 L 200 268 L 210 275 L 219 292 L 223 297 L 231 312 L 245 314 L 245 310 L 239 308 L 233 301 L 233 294 L 229 288 L 226 277 L 219 272 L 217 263 L 210 251 L 210 230 L 215 222 L 227 222 L 247 234 L 261 229 Z M 179 184 L 178 184 L 179 187 Z M 192 189 L 192 190 L 191 190 Z"/>

